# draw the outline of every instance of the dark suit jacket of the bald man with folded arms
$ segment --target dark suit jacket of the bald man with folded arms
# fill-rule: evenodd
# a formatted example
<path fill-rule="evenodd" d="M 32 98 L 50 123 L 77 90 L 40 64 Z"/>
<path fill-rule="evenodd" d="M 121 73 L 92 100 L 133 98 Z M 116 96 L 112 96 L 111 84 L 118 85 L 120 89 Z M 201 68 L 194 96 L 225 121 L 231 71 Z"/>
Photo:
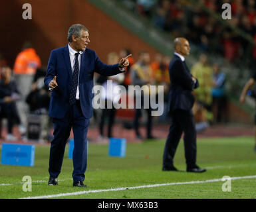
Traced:
<path fill-rule="evenodd" d="M 171 86 L 168 113 L 172 113 L 175 109 L 191 110 L 195 101 L 192 91 L 199 86 L 197 79 L 196 83 L 194 83 L 186 62 L 182 62 L 176 54 L 174 54 L 170 62 L 169 74 Z"/>

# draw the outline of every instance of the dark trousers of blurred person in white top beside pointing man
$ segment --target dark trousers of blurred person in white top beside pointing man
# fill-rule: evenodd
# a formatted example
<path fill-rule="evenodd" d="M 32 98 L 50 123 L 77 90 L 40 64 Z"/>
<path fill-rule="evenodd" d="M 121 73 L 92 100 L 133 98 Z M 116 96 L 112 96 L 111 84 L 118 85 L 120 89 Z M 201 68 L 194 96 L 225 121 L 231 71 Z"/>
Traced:
<path fill-rule="evenodd" d="M 105 104 L 106 105 L 106 104 Z M 111 109 L 102 109 L 102 114 L 100 117 L 100 135 L 104 135 L 104 123 L 108 119 L 108 138 L 112 136 L 112 127 L 114 125 L 114 119 L 116 117 L 116 109 L 112 105 Z"/>

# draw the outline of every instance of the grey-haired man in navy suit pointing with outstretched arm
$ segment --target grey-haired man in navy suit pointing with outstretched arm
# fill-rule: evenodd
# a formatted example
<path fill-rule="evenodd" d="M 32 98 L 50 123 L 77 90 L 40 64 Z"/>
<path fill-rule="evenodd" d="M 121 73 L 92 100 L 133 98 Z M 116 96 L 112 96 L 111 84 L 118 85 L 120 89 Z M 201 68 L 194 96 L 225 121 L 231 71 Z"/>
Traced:
<path fill-rule="evenodd" d="M 54 138 L 51 142 L 49 159 L 49 185 L 57 185 L 61 173 L 64 149 L 74 132 L 73 186 L 84 185 L 87 166 L 87 131 L 92 117 L 92 93 L 94 72 L 113 76 L 124 72 L 129 65 L 128 57 L 118 64 L 106 65 L 100 61 L 89 44 L 88 29 L 83 25 L 72 25 L 68 30 L 68 45 L 51 52 L 45 76 L 45 85 L 51 90 L 49 116 L 54 123 Z"/>

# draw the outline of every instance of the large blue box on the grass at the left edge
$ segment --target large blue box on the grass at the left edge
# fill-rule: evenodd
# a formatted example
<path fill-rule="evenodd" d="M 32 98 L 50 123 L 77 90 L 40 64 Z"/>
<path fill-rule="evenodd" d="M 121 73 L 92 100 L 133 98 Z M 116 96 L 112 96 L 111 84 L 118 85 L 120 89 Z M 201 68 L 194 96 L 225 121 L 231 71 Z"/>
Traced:
<path fill-rule="evenodd" d="M 34 166 L 35 145 L 2 144 L 1 164 L 16 166 Z"/>

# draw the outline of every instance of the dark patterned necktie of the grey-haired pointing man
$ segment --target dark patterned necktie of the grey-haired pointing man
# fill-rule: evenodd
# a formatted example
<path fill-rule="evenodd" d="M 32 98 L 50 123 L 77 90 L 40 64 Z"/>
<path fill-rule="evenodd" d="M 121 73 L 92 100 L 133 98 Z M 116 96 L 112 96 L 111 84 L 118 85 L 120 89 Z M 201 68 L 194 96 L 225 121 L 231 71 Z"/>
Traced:
<path fill-rule="evenodd" d="M 78 71 L 79 71 L 79 64 L 78 64 L 78 55 L 79 53 L 74 54 L 74 71 L 72 74 L 72 83 L 71 83 L 71 91 L 69 96 L 69 103 L 70 105 L 74 105 L 76 102 L 76 89 L 78 84 Z"/>

